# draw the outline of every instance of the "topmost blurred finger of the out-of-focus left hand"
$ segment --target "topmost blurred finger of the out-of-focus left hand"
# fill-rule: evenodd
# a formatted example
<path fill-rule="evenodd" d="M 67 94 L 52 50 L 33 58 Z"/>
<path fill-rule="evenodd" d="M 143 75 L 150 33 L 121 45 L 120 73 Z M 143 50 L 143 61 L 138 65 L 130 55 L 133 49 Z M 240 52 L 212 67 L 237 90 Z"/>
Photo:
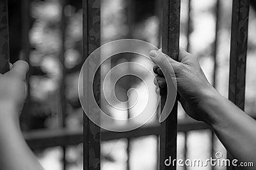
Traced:
<path fill-rule="evenodd" d="M 13 64 L 12 69 L 6 74 L 8 74 L 8 76 L 17 76 L 21 80 L 25 80 L 28 69 L 29 66 L 26 61 L 18 60 Z"/>

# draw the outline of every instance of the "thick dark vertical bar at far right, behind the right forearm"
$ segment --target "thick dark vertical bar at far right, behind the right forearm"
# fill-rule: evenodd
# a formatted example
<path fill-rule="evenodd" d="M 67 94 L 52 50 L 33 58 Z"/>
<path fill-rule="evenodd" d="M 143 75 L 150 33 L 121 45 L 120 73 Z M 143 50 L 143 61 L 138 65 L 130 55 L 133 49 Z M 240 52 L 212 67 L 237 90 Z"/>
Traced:
<path fill-rule="evenodd" d="M 241 110 L 244 110 L 249 9 L 250 0 L 233 0 L 228 99 Z"/>

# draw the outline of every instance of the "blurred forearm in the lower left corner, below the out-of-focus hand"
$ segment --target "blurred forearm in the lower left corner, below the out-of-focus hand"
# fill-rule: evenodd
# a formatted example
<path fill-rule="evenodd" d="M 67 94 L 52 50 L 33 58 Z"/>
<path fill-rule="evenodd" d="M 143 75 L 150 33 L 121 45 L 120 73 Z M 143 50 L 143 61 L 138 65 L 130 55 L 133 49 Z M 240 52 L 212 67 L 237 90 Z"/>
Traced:
<path fill-rule="evenodd" d="M 1 105 L 1 104 L 0 104 Z M 9 106 L 1 106 L 0 165 L 1 169 L 42 170 L 42 166 L 26 145 L 19 128 L 19 120 Z"/>

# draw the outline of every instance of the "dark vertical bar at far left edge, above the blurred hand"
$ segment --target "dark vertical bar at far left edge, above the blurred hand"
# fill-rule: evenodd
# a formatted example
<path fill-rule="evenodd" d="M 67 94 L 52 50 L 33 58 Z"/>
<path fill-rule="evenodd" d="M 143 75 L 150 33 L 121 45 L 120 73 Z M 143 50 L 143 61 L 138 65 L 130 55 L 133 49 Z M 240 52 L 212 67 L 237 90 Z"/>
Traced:
<path fill-rule="evenodd" d="M 9 61 L 8 3 L 0 0 L 0 73 L 10 69 Z"/>

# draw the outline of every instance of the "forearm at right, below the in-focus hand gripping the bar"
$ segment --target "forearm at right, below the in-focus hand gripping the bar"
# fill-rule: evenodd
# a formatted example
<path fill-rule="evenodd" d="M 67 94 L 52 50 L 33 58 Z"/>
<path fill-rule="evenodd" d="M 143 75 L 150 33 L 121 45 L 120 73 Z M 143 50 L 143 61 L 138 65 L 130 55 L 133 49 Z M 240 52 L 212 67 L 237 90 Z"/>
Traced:
<path fill-rule="evenodd" d="M 220 94 L 205 100 L 204 111 L 228 152 L 239 161 L 256 165 L 256 121 Z"/>

